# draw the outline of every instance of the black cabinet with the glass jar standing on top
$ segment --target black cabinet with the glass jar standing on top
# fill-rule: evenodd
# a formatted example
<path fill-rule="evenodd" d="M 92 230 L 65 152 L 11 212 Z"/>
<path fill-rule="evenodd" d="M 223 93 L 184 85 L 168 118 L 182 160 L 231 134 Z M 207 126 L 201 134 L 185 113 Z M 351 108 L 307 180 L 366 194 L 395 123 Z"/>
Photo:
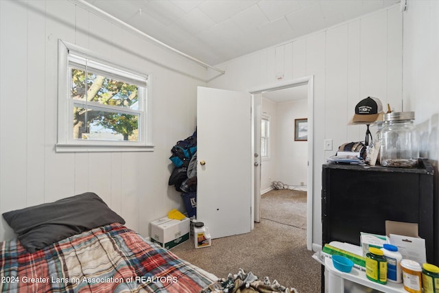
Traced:
<path fill-rule="evenodd" d="M 433 168 L 327 164 L 322 168 L 322 245 L 359 245 L 360 232 L 385 235 L 385 220 L 417 223 L 427 261 L 439 265 L 438 202 Z"/>

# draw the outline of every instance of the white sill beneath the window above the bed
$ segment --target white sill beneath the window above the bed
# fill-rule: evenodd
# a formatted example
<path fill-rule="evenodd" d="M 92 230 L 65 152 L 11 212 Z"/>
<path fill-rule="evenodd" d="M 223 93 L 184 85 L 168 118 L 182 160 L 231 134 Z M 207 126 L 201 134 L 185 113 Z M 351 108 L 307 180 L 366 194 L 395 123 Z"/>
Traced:
<path fill-rule="evenodd" d="M 57 143 L 56 152 L 154 152 L 154 145 L 78 145 Z"/>

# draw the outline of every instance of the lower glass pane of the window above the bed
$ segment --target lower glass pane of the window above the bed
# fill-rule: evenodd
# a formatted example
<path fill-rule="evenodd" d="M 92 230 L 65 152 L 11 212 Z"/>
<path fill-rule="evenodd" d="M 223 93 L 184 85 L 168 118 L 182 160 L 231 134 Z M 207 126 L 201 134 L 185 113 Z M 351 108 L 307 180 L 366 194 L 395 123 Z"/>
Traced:
<path fill-rule="evenodd" d="M 75 106 L 73 139 L 139 141 L 139 115 Z"/>

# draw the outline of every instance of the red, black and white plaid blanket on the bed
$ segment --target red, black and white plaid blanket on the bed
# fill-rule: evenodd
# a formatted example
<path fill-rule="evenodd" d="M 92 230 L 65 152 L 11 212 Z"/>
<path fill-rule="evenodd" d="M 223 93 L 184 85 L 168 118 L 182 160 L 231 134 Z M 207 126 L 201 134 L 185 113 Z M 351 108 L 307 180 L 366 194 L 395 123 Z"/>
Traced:
<path fill-rule="evenodd" d="M 28 253 L 0 242 L 0 292 L 199 292 L 215 276 L 118 223 Z"/>

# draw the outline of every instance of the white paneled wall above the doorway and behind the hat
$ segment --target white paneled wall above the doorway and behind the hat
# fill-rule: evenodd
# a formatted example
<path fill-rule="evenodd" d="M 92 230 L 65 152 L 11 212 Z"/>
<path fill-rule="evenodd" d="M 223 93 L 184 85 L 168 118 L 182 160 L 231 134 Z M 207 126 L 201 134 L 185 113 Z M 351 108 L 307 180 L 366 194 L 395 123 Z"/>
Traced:
<path fill-rule="evenodd" d="M 402 14 L 399 5 L 218 65 L 226 74 L 209 86 L 245 91 L 314 76 L 313 243 L 321 244 L 321 169 L 335 148 L 363 141 L 366 126 L 348 126 L 355 104 L 378 97 L 401 110 Z M 283 71 L 283 72 L 281 72 Z M 333 139 L 333 151 L 324 151 Z"/>

